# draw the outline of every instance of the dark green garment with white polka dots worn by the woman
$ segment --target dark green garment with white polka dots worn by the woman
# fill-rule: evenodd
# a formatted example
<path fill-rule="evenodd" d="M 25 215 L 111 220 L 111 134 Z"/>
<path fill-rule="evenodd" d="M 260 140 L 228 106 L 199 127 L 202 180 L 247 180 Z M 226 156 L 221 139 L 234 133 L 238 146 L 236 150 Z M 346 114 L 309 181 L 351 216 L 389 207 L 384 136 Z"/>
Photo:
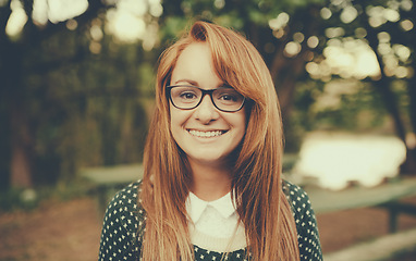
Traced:
<path fill-rule="evenodd" d="M 306 192 L 296 185 L 284 182 L 283 191 L 292 206 L 296 222 L 301 261 L 321 261 L 322 251 L 314 210 Z M 133 183 L 119 191 L 109 203 L 103 219 L 99 260 L 140 260 L 142 241 L 145 233 L 146 214 L 137 195 L 140 182 Z M 194 246 L 195 260 L 248 261 L 246 249 L 230 253 L 209 251 Z"/>

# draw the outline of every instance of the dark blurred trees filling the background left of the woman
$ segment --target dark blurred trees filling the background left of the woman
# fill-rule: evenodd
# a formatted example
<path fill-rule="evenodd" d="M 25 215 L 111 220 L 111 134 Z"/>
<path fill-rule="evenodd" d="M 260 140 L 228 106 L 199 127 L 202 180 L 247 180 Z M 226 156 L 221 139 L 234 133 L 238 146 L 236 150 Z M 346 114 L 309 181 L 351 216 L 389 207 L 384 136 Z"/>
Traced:
<path fill-rule="evenodd" d="M 140 100 L 155 59 L 105 33 L 114 1 L 85 3 L 78 14 L 42 21 L 34 1 L 0 1 L 2 186 L 68 181 L 83 165 L 140 159 Z M 16 21 L 24 23 L 11 33 Z"/>

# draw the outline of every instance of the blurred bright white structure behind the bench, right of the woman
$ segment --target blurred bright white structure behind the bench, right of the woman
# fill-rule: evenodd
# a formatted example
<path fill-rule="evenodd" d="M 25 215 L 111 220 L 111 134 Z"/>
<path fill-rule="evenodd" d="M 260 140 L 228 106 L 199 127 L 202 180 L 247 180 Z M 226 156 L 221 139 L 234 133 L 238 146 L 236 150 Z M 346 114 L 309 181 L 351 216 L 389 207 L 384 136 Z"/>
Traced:
<path fill-rule="evenodd" d="M 396 137 L 353 134 L 310 134 L 293 173 L 315 177 L 322 188 L 339 190 L 350 182 L 371 187 L 399 174 L 405 145 Z"/>

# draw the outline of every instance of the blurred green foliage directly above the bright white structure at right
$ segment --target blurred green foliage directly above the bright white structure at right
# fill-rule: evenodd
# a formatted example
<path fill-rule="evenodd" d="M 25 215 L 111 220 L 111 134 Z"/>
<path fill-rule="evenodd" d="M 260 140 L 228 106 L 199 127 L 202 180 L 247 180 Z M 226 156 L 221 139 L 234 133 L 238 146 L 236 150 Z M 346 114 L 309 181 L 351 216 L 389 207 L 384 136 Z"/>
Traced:
<path fill-rule="evenodd" d="M 371 85 L 343 79 L 333 83 L 298 86 L 294 111 L 298 128 L 368 132 L 382 127 L 387 111 Z M 331 90 L 334 88 L 338 90 Z"/>

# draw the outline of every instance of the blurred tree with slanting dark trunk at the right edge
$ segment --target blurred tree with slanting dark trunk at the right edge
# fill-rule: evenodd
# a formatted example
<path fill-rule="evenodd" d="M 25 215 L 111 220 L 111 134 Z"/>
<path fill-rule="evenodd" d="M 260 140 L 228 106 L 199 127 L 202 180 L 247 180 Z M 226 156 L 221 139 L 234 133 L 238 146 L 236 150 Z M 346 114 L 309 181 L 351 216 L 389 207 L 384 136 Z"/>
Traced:
<path fill-rule="evenodd" d="M 414 136 L 416 133 L 416 30 L 414 28 L 416 7 L 414 2 L 411 0 L 332 0 L 321 9 L 320 13 L 325 18 L 321 23 L 327 38 L 327 48 L 343 46 L 345 49 L 352 49 L 358 45 L 369 47 L 374 58 L 368 58 L 375 60 L 378 67 L 376 74 L 357 75 L 333 69 L 332 72 L 329 71 L 329 74 L 371 84 L 375 95 L 380 97 L 384 110 L 393 121 L 397 137 L 406 145 L 407 157 L 402 165 L 402 173 L 416 173 L 416 147 L 407 140 L 408 135 Z M 359 52 L 359 54 L 366 53 Z M 318 57 L 314 62 L 322 65 L 321 60 L 322 57 Z M 370 63 L 367 64 L 371 66 Z M 322 69 L 320 66 L 318 71 Z M 321 75 L 321 78 L 328 76 Z"/>

